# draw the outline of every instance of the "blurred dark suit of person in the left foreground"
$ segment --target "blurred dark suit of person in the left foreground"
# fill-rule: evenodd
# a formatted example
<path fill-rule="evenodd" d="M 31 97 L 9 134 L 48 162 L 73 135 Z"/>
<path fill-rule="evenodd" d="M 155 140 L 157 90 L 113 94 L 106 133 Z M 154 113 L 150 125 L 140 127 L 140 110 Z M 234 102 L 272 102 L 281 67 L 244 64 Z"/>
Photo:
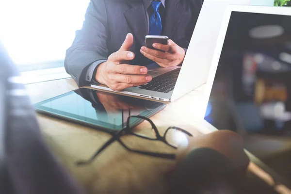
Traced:
<path fill-rule="evenodd" d="M 24 85 L 11 80 L 19 74 L 1 44 L 0 64 L 0 193 L 83 194 L 42 139 Z"/>

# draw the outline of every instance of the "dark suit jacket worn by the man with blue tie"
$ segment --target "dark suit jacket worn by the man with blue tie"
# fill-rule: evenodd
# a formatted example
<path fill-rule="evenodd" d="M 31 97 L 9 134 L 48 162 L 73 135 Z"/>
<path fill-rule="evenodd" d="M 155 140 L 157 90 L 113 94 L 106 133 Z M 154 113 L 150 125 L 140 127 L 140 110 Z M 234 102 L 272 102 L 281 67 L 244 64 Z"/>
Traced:
<path fill-rule="evenodd" d="M 166 0 L 162 35 L 187 49 L 202 3 L 203 0 Z M 129 64 L 148 65 L 150 60 L 140 53 L 148 34 L 146 22 L 142 0 L 91 0 L 83 27 L 76 32 L 72 46 L 66 51 L 67 73 L 79 86 L 88 85 L 85 80 L 89 65 L 106 60 L 120 49 L 129 32 L 134 36 L 130 50 L 135 53 L 135 59 Z"/>

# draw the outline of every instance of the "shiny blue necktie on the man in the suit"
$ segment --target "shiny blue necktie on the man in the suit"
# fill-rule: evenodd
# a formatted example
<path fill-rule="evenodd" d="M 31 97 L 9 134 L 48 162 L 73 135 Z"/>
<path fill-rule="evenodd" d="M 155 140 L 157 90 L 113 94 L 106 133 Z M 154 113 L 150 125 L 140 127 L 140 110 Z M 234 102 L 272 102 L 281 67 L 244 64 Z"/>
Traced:
<path fill-rule="evenodd" d="M 162 18 L 159 13 L 161 1 L 152 1 L 152 7 L 154 9 L 153 15 L 149 19 L 149 34 L 161 35 L 162 34 Z"/>

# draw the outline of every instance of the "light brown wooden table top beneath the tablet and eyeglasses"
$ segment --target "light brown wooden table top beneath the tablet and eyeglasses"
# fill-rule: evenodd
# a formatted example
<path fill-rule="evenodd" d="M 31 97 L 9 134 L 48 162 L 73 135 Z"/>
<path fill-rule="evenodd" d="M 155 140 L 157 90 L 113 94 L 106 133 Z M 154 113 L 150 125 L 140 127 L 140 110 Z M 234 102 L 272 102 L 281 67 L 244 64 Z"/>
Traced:
<path fill-rule="evenodd" d="M 47 81 L 26 85 L 32 103 L 77 89 L 72 79 Z M 178 126 L 194 136 L 206 134 L 213 129 L 202 126 L 198 121 L 201 116 L 201 99 L 204 86 L 190 92 L 175 102 L 167 104 L 160 113 L 151 117 L 160 131 L 169 126 Z M 74 164 L 80 159 L 88 159 L 111 135 L 60 119 L 37 115 L 42 133 L 52 152 L 90 194 L 95 193 L 151 193 L 161 194 L 165 189 L 165 172 L 174 162 L 130 153 L 118 143 L 113 143 L 104 150 L 90 165 L 78 167 Z M 143 124 L 135 130 L 143 129 Z M 162 142 L 141 140 L 137 137 L 123 137 L 123 141 L 134 145 L 136 149 L 146 147 L 156 152 L 175 153 L 173 148 Z M 254 171 L 269 184 L 272 178 L 256 164 L 251 163 Z"/>

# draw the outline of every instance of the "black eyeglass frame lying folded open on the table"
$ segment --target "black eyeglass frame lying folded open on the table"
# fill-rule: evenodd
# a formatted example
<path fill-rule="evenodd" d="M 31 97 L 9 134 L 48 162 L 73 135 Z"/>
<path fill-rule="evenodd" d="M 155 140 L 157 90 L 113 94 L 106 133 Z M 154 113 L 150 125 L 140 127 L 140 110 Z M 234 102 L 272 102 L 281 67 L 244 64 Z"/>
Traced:
<path fill-rule="evenodd" d="M 154 129 L 155 133 L 156 133 L 156 138 L 151 138 L 151 137 L 147 137 L 144 135 L 140 135 L 140 134 L 136 134 L 134 133 L 130 126 L 129 126 L 129 120 L 130 118 L 140 118 L 140 119 L 144 119 L 146 121 L 148 121 L 151 124 L 152 129 Z M 176 129 L 178 131 L 181 131 L 183 133 L 185 133 L 186 135 L 193 137 L 193 135 L 181 128 L 178 127 L 168 127 L 168 129 L 165 130 L 163 136 L 160 135 L 159 130 L 157 129 L 156 125 L 152 122 L 152 120 L 150 120 L 149 118 L 145 117 L 145 116 L 141 116 L 141 115 L 130 115 L 127 119 L 127 125 L 126 128 L 121 129 L 118 133 L 114 134 L 113 137 L 111 139 L 109 139 L 103 146 L 101 146 L 94 154 L 93 156 L 91 156 L 88 160 L 85 161 L 77 161 L 75 162 L 76 165 L 81 166 L 81 165 L 85 165 L 85 164 L 90 164 L 91 162 L 93 162 L 95 160 L 95 158 L 98 156 L 99 153 L 101 153 L 105 148 L 107 148 L 108 146 L 110 146 L 114 141 L 118 141 L 121 146 L 123 146 L 125 149 L 127 149 L 128 151 L 134 152 L 134 153 L 138 153 L 138 154 L 143 154 L 143 155 L 147 155 L 147 156 L 152 156 L 152 157 L 156 157 L 156 158 L 162 158 L 162 159 L 170 159 L 170 160 L 175 160 L 176 159 L 176 154 L 167 154 L 167 153 L 159 153 L 159 152 L 148 152 L 148 151 L 140 151 L 140 150 L 135 150 L 135 149 L 131 149 L 128 146 L 126 146 L 121 140 L 120 137 L 123 135 L 134 135 L 143 139 L 147 139 L 147 140 L 152 140 L 152 141 L 162 141 L 163 143 L 165 143 L 168 146 L 171 146 L 174 149 L 177 149 L 176 146 L 171 145 L 170 143 L 167 142 L 166 140 L 166 134 L 170 129 Z"/>

